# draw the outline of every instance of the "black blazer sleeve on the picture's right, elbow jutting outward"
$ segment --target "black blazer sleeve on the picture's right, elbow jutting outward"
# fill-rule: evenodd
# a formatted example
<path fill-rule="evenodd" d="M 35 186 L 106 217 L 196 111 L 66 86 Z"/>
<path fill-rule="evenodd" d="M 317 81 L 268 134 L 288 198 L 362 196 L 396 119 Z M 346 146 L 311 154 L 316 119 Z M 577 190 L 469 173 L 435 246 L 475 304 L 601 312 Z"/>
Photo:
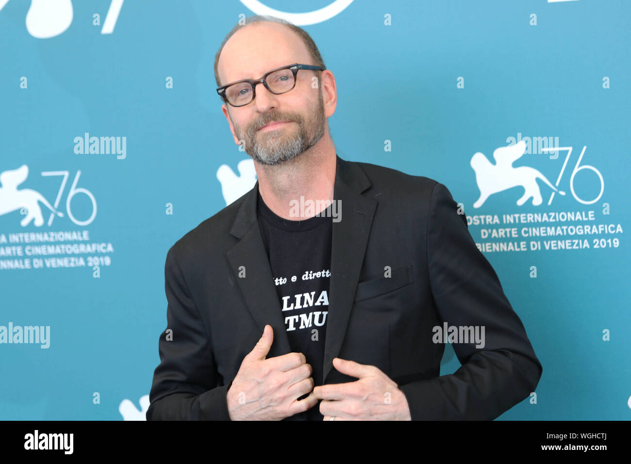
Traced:
<path fill-rule="evenodd" d="M 445 187 L 433 187 L 427 222 L 428 275 L 441 323 L 484 326 L 485 346 L 454 343 L 454 374 L 399 386 L 412 420 L 492 420 L 527 398 L 542 367 L 495 271 Z M 423 334 L 432 336 L 433 334 Z"/>

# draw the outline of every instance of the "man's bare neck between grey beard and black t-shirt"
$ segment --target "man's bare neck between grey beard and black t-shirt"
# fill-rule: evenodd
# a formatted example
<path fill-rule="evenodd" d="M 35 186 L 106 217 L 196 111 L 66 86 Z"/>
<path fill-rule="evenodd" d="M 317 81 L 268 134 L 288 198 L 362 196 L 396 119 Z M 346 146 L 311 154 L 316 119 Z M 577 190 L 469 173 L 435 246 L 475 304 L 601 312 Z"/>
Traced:
<path fill-rule="evenodd" d="M 257 162 L 256 175 L 259 192 L 265 204 L 277 216 L 288 220 L 302 220 L 311 216 L 296 215 L 304 211 L 295 208 L 295 202 L 315 201 L 314 214 L 326 209 L 333 201 L 335 184 L 336 152 L 333 140 L 322 137 L 306 152 L 278 165 L 263 165 Z M 298 211 L 297 211 L 298 209 Z"/>

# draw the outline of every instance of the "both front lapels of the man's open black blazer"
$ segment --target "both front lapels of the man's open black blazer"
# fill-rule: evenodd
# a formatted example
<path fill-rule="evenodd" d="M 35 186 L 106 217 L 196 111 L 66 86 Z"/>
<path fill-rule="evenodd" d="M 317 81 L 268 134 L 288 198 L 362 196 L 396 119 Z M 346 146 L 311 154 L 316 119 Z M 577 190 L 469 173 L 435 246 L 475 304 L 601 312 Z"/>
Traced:
<path fill-rule="evenodd" d="M 341 218 L 339 222 L 333 222 L 329 313 L 324 343 L 324 383 L 333 368 L 333 358 L 339 354 L 344 340 L 377 206 L 374 199 L 361 194 L 370 187 L 370 181 L 362 169 L 337 155 L 336 158 L 333 198 L 337 202 L 338 215 Z M 227 257 L 259 330 L 262 333 L 265 324 L 274 329 L 274 342 L 268 357 L 276 357 L 287 354 L 292 349 L 259 230 L 256 205 L 258 189 L 259 182 L 256 181 L 254 188 L 245 194 L 237 211 L 230 234 L 240 240 L 228 251 Z M 245 271 L 245 277 L 239 277 L 240 268 Z"/>

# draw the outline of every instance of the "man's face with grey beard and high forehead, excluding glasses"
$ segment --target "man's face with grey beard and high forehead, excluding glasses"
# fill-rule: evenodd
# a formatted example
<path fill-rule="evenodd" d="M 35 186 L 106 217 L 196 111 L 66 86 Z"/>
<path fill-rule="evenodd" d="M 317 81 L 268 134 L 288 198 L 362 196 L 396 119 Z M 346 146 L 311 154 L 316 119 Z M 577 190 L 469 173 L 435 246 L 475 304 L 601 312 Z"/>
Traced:
<path fill-rule="evenodd" d="M 293 31 L 277 23 L 253 23 L 228 40 L 218 69 L 222 82 L 229 83 L 257 79 L 294 62 L 312 64 L 312 58 Z M 235 141 L 242 143 L 254 160 L 278 165 L 321 140 L 327 115 L 318 74 L 301 69 L 295 87 L 289 92 L 274 95 L 264 85 L 257 84 L 253 102 L 242 107 L 223 105 Z M 314 82 L 317 85 L 312 85 Z M 272 121 L 288 122 L 264 128 Z"/>

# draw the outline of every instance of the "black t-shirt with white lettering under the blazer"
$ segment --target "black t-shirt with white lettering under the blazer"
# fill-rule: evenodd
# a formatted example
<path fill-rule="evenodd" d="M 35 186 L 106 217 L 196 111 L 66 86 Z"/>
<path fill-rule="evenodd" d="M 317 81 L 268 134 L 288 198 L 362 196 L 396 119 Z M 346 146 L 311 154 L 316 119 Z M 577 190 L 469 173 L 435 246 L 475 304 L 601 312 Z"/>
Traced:
<path fill-rule="evenodd" d="M 331 280 L 331 206 L 319 216 L 286 220 L 270 210 L 259 193 L 257 211 L 290 348 L 305 355 L 312 367 L 314 386 L 322 385 Z M 307 395 L 299 399 L 303 398 Z M 322 419 L 319 402 L 288 418 Z"/>

